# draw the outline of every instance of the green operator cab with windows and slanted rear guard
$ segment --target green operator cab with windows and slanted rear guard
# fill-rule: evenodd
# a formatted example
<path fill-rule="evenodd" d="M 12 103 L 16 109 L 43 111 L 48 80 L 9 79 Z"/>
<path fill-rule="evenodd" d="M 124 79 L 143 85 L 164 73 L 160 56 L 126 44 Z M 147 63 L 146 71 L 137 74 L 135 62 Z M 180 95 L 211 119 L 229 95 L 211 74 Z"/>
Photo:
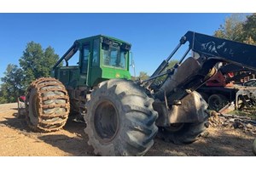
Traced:
<path fill-rule="evenodd" d="M 66 88 L 92 88 L 113 78 L 131 79 L 129 51 L 131 44 L 107 36 L 79 39 L 67 50 L 52 70 L 52 77 L 59 79 Z M 79 51 L 78 65 L 68 65 L 68 60 Z M 59 66 L 62 60 L 66 66 Z"/>

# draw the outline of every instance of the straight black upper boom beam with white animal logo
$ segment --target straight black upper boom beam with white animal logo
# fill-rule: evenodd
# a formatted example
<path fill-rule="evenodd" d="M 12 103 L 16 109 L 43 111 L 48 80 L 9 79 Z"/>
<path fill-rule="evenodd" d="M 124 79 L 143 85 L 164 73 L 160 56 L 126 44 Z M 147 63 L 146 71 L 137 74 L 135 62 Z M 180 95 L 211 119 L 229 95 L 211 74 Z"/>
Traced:
<path fill-rule="evenodd" d="M 207 55 L 207 59 L 221 59 L 228 63 L 256 70 L 256 59 L 254 59 L 256 47 L 253 45 L 192 31 L 188 31 L 184 37 L 189 42 L 189 48 L 199 54 Z"/>

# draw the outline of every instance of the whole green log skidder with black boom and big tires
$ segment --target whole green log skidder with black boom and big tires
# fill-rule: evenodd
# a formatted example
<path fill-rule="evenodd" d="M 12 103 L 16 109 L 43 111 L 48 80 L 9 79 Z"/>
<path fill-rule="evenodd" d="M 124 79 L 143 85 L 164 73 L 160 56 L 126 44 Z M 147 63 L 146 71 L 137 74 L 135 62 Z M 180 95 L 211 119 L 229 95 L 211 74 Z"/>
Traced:
<path fill-rule="evenodd" d="M 179 63 L 167 69 L 186 42 L 189 48 Z M 52 77 L 39 78 L 27 89 L 28 126 L 55 131 L 65 125 L 70 111 L 77 111 L 84 116 L 84 132 L 95 154 L 143 156 L 157 133 L 176 144 L 199 139 L 208 113 L 195 90 L 217 72 L 214 65 L 256 69 L 256 46 L 188 31 L 148 80 L 132 82 L 130 49 L 130 43 L 102 35 L 75 41 L 54 65 Z M 68 66 L 78 51 L 78 65 Z M 65 66 L 60 66 L 62 60 Z"/>

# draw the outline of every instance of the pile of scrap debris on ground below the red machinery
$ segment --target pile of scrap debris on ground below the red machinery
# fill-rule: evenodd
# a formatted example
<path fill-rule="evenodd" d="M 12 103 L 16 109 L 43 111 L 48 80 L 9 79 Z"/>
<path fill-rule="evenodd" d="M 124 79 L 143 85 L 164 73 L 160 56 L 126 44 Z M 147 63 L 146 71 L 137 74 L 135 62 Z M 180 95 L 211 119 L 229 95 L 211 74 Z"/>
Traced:
<path fill-rule="evenodd" d="M 209 124 L 212 127 L 240 128 L 244 133 L 256 135 L 256 121 L 247 116 L 236 116 L 211 111 Z"/>

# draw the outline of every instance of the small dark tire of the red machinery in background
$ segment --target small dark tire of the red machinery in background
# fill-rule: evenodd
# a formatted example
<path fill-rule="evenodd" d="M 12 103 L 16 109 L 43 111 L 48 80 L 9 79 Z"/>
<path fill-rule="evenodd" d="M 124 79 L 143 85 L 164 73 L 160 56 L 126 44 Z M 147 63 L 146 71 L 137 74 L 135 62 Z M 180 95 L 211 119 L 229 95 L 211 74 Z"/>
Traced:
<path fill-rule="evenodd" d="M 219 111 L 225 105 L 227 105 L 229 100 L 222 94 L 212 94 L 208 98 L 209 110 Z"/>

